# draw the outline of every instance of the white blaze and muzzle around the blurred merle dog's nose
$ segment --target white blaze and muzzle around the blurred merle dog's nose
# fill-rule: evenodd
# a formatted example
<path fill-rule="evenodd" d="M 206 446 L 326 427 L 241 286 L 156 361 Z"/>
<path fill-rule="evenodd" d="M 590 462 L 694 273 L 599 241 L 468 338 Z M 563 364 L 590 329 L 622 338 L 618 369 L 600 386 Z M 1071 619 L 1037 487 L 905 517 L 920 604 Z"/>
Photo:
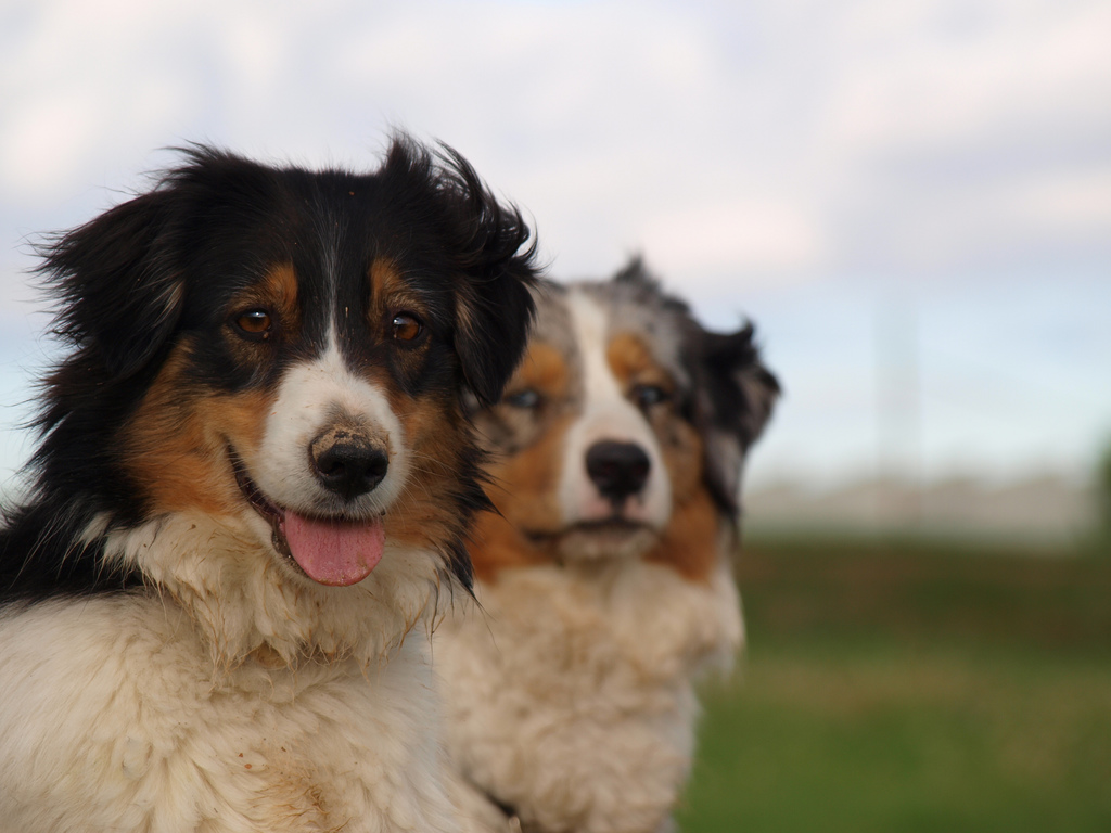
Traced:
<path fill-rule="evenodd" d="M 565 524 L 602 521 L 613 504 L 602 496 L 587 472 L 587 452 L 601 441 L 634 443 L 648 455 L 651 470 L 639 494 L 631 495 L 621 518 L 662 530 L 671 516 L 671 482 L 660 445 L 644 415 L 628 399 L 607 358 L 609 320 L 602 307 L 583 292 L 568 293 L 567 305 L 580 351 L 583 375 L 582 413 L 571 424 L 563 448 L 559 499 Z"/>

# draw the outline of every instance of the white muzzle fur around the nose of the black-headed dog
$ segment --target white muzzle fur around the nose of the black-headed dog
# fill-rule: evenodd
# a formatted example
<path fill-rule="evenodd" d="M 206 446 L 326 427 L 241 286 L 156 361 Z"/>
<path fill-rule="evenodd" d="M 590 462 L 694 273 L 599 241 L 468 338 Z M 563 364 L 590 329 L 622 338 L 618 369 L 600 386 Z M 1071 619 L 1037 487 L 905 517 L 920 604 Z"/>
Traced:
<path fill-rule="evenodd" d="M 401 494 L 410 466 L 401 422 L 386 394 L 348 369 L 332 334 L 322 355 L 287 371 L 267 414 L 262 448 L 250 474 L 270 501 L 309 515 L 334 505 L 336 495 L 316 476 L 309 446 L 337 416 L 384 436 L 389 456 L 381 483 L 358 498 L 350 511 L 381 513 Z"/>

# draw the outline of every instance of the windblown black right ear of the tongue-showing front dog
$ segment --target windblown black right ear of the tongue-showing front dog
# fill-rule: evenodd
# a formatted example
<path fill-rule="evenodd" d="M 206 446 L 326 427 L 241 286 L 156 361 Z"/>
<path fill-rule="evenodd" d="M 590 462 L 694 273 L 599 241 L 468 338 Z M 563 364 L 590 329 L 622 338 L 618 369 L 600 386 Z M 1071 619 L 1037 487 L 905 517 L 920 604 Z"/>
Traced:
<path fill-rule="evenodd" d="M 463 281 L 456 352 L 469 391 L 491 405 L 517 369 L 536 314 L 536 240 L 520 211 L 502 205 L 474 169 L 442 147 L 439 190 L 454 202 L 453 250 Z"/>

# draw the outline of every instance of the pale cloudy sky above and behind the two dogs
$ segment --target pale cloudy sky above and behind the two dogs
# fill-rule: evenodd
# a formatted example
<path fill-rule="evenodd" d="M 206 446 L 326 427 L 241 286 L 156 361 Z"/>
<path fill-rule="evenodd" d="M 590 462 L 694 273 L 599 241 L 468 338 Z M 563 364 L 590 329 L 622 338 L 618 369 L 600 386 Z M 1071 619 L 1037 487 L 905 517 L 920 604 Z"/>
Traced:
<path fill-rule="evenodd" d="M 557 279 L 633 253 L 751 319 L 751 486 L 1082 480 L 1111 443 L 1111 4 L 0 1 L 0 481 L 49 361 L 32 245 L 209 142 L 457 148 Z"/>

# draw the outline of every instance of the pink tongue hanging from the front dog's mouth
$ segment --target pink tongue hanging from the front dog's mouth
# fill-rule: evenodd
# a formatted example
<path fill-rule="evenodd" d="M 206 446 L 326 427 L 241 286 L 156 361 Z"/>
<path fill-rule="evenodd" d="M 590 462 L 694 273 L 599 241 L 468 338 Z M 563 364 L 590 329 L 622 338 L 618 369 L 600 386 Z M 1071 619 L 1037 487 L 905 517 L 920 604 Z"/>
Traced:
<path fill-rule="evenodd" d="M 293 560 L 313 581 L 346 588 L 362 581 L 382 559 L 386 530 L 370 522 L 313 521 L 286 512 L 282 523 Z"/>

